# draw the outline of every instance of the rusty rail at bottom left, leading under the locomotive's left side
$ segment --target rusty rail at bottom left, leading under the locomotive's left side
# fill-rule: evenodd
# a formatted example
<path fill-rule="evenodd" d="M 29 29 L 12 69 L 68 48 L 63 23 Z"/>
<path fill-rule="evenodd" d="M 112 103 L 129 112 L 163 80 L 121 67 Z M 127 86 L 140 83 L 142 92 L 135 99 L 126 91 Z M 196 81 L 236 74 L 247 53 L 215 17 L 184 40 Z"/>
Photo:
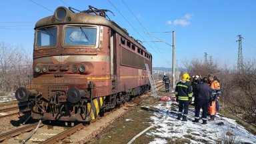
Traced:
<path fill-rule="evenodd" d="M 25 127 L 21 127 L 18 129 L 14 129 L 12 131 L 7 131 L 6 133 L 0 134 L 0 143 L 3 142 L 5 139 L 9 139 L 11 137 L 15 137 L 17 135 L 20 135 L 21 133 L 27 132 L 27 131 L 32 131 L 37 127 L 38 123 L 33 123 L 31 125 L 26 125 Z M 43 123 L 39 125 L 39 127 L 43 127 Z"/>

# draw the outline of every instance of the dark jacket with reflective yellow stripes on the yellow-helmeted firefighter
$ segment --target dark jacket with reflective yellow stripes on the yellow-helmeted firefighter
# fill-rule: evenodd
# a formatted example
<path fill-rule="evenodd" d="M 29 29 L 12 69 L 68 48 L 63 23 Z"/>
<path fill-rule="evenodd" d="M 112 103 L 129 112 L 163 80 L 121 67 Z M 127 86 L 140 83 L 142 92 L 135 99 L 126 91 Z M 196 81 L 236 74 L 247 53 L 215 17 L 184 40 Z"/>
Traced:
<path fill-rule="evenodd" d="M 192 99 L 191 85 L 187 81 L 179 81 L 176 85 L 175 96 L 179 101 Z"/>

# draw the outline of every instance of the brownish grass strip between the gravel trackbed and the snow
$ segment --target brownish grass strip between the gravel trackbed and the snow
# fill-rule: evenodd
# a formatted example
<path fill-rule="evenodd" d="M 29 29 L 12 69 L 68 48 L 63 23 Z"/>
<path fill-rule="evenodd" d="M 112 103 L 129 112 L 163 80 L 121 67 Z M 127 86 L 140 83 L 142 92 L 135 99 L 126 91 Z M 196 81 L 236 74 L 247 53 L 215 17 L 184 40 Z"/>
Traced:
<path fill-rule="evenodd" d="M 146 102 L 149 102 L 146 100 Z M 124 117 L 121 117 L 110 127 L 102 131 L 95 139 L 87 143 L 111 143 L 121 144 L 127 143 L 135 135 L 150 126 L 150 119 L 152 113 L 145 111 L 141 107 L 135 107 L 129 111 Z M 153 138 L 147 137 L 147 135 L 141 135 L 139 139 L 136 139 L 133 143 L 149 143 Z"/>

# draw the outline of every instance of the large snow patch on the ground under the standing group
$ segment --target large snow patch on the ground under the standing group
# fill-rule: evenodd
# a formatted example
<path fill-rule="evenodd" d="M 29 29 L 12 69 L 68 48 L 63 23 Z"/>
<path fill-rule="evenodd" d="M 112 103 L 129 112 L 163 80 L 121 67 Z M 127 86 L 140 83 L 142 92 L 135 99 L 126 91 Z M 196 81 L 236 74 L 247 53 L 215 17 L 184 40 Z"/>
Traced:
<path fill-rule="evenodd" d="M 217 115 L 215 121 L 207 121 L 207 125 L 202 125 L 202 120 L 199 123 L 193 123 L 195 109 L 189 109 L 188 121 L 183 122 L 176 119 L 178 107 L 175 105 L 172 106 L 174 109 L 170 107 L 171 102 L 153 106 L 154 109 L 159 109 L 159 111 L 153 111 L 154 116 L 150 117 L 153 123 L 161 121 L 166 116 L 167 119 L 147 131 L 148 136 L 156 137 L 151 144 L 168 143 L 166 139 L 189 139 L 190 143 L 216 143 L 217 140 L 228 139 L 228 135 L 235 135 L 231 137 L 239 143 L 256 143 L 256 136 L 233 119 Z"/>

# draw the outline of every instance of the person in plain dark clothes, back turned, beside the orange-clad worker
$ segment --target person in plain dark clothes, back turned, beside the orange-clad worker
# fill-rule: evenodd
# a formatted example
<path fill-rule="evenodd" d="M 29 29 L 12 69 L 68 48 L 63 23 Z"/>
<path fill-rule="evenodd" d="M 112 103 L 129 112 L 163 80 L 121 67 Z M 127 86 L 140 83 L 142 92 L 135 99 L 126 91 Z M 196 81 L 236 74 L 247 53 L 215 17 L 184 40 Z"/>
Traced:
<path fill-rule="evenodd" d="M 198 123 L 199 122 L 199 113 L 200 109 L 202 107 L 203 113 L 203 124 L 207 124 L 207 108 L 209 105 L 209 100 L 211 98 L 211 87 L 207 85 L 208 79 L 207 77 L 203 78 L 203 83 L 197 86 L 197 91 L 195 95 L 197 95 L 195 101 L 195 120 L 193 122 Z"/>

